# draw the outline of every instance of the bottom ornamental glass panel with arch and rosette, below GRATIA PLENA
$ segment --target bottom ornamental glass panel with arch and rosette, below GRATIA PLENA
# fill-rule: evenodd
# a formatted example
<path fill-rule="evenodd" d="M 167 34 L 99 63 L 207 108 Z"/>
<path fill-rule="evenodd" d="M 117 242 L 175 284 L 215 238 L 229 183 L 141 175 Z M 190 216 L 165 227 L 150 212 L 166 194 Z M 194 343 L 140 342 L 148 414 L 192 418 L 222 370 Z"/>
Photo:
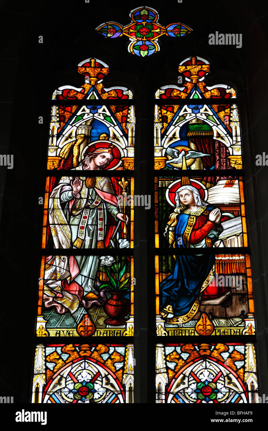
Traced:
<path fill-rule="evenodd" d="M 252 343 L 157 344 L 157 403 L 257 403 Z"/>

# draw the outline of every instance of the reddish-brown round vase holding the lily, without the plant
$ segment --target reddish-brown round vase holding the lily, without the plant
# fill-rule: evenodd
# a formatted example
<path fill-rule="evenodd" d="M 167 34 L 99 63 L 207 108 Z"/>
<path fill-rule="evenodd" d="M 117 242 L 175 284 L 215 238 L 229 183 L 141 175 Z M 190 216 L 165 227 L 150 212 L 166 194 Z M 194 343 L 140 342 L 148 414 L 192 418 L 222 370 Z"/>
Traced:
<path fill-rule="evenodd" d="M 104 311 L 109 319 L 105 320 L 108 325 L 123 325 L 126 321 L 125 315 L 129 311 L 129 303 L 123 297 L 122 292 L 110 292 L 111 298 L 104 305 Z"/>

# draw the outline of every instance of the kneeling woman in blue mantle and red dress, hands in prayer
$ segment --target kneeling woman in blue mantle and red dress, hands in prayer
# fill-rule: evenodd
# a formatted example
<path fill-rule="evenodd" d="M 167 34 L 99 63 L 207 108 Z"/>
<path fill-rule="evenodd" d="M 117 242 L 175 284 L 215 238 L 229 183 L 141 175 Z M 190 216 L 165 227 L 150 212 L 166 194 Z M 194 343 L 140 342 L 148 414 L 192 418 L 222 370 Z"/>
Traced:
<path fill-rule="evenodd" d="M 194 183 L 193 183 L 194 184 Z M 221 222 L 228 220 L 219 208 L 200 196 L 197 187 L 185 184 L 176 190 L 176 208 L 170 215 L 165 235 L 170 247 L 213 247 L 223 231 Z M 212 281 L 215 256 L 209 254 L 180 254 L 174 270 L 160 284 L 161 315 L 185 323 L 197 313 L 201 293 Z"/>

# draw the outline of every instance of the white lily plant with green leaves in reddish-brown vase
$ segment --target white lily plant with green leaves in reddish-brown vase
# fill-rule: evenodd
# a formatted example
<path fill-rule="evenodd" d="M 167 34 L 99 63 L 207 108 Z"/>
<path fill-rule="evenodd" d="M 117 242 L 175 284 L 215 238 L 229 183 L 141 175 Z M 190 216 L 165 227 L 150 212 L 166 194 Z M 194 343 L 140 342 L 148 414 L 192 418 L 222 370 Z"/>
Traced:
<path fill-rule="evenodd" d="M 123 325 L 124 317 L 129 311 L 129 303 L 124 298 L 124 294 L 129 291 L 129 277 L 123 278 L 127 264 L 120 262 L 119 256 L 101 256 L 99 259 L 108 278 L 99 286 L 99 289 L 106 289 L 106 292 L 111 295 L 103 305 L 104 311 L 108 315 L 105 323 Z"/>

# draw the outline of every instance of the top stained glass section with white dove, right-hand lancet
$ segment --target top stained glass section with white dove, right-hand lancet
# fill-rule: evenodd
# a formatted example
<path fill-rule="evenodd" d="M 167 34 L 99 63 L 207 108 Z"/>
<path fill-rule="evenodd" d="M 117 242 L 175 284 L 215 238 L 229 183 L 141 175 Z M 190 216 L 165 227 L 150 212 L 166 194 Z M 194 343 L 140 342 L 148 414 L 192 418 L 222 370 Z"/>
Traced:
<path fill-rule="evenodd" d="M 162 103 L 154 112 L 155 169 L 242 169 L 238 108 L 232 100 L 236 91 L 224 84 L 207 87 L 203 77 L 208 72 L 206 60 L 191 57 L 179 65 L 182 87 L 156 91 Z"/>

